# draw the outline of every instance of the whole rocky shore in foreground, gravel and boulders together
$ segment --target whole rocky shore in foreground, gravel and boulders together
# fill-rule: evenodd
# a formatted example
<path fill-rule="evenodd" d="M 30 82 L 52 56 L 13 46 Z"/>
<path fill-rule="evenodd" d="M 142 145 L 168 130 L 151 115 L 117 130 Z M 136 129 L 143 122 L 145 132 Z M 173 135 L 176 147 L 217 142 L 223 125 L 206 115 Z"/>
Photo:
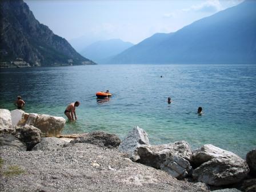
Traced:
<path fill-rule="evenodd" d="M 61 134 L 60 118 L 29 116 L 0 109 L 0 191 L 256 191 L 256 149 L 246 162 L 213 145 L 194 151 L 185 141 L 153 146 L 139 127 L 122 142 L 103 131 L 65 141 L 42 137 L 46 130 Z"/>

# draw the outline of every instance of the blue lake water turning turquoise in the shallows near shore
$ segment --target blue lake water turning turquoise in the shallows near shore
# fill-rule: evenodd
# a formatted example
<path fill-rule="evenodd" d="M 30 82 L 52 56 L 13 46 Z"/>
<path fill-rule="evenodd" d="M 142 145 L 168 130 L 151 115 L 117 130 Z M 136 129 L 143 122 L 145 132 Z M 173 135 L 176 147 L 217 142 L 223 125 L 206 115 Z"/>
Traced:
<path fill-rule="evenodd" d="M 123 138 L 138 125 L 153 144 L 212 143 L 241 157 L 256 147 L 255 65 L 1 69 L 0 88 L 0 107 L 9 110 L 21 95 L 28 113 L 65 117 L 66 105 L 80 101 L 78 121 L 66 123 L 63 133 L 103 130 Z M 105 90 L 113 97 L 98 101 L 95 93 Z"/>

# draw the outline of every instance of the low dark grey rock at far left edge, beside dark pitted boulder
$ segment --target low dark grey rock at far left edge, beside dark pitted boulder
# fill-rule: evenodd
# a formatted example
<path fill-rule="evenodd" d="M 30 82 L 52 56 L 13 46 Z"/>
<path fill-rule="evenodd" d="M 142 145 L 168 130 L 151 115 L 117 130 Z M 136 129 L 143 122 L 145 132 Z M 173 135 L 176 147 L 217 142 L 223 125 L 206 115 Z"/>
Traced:
<path fill-rule="evenodd" d="M 12 134 L 1 134 L 0 135 L 0 147 L 1 146 L 9 146 L 18 151 L 26 151 L 27 150 L 26 144 L 19 141 L 19 139 L 14 137 L 14 135 L 12 135 Z"/>

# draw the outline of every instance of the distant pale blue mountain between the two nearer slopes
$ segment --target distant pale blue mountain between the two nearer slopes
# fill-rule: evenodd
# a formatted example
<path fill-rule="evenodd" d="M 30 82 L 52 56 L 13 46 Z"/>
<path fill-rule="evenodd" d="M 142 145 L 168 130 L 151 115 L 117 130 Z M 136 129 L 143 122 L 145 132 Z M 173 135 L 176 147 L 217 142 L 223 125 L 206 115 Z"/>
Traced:
<path fill-rule="evenodd" d="M 95 62 L 106 63 L 110 57 L 129 49 L 133 45 L 133 43 L 123 42 L 121 39 L 98 41 L 85 47 L 85 49 L 81 51 L 81 54 L 84 57 L 93 59 Z"/>

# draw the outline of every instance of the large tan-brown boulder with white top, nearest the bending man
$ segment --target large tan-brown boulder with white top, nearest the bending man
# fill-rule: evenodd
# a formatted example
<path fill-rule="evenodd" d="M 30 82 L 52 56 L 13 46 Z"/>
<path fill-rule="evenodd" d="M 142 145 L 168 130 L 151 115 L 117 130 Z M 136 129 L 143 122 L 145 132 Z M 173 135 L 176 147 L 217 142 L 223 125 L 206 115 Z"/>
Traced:
<path fill-rule="evenodd" d="M 30 113 L 26 125 L 33 125 L 41 130 L 42 137 L 58 137 L 65 125 L 63 117 Z"/>

